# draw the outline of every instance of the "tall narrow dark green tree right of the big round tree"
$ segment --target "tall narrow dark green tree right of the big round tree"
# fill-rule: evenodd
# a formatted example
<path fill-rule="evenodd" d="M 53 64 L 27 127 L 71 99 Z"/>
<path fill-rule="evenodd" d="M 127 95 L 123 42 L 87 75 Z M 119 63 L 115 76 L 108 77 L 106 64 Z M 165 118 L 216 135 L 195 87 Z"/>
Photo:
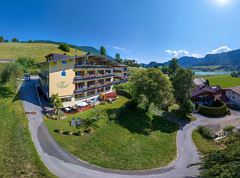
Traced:
<path fill-rule="evenodd" d="M 172 79 L 174 89 L 174 98 L 180 106 L 182 114 L 186 115 L 192 112 L 192 104 L 189 100 L 193 88 L 193 73 L 190 69 L 178 69 Z"/>

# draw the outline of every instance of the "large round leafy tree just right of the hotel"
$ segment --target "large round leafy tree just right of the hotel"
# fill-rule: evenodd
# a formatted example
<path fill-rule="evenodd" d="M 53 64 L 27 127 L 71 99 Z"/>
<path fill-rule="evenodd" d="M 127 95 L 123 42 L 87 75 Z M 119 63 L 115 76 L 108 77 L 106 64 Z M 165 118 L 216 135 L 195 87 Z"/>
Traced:
<path fill-rule="evenodd" d="M 160 69 L 136 71 L 131 76 L 130 87 L 133 99 L 145 111 L 149 111 L 152 104 L 166 108 L 173 101 L 171 82 Z"/>

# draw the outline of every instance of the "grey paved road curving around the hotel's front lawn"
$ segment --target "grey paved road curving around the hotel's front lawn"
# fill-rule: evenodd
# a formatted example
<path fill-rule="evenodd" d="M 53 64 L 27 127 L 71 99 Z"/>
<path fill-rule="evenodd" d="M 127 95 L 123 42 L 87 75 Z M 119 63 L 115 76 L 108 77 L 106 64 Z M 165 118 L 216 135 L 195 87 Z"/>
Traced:
<path fill-rule="evenodd" d="M 43 123 L 42 108 L 38 102 L 34 82 L 36 81 L 24 82 L 21 86 L 21 99 L 26 112 L 36 112 L 34 115 L 28 114 L 32 140 L 42 161 L 56 176 L 63 178 L 186 178 L 199 175 L 198 166 L 194 164 L 200 161 L 200 156 L 192 141 L 191 133 L 197 126 L 207 124 L 206 118 L 199 117 L 197 121 L 188 124 L 179 123 L 182 127 L 177 133 L 178 157 L 166 167 L 146 171 L 99 168 L 77 159 L 52 138 Z"/>

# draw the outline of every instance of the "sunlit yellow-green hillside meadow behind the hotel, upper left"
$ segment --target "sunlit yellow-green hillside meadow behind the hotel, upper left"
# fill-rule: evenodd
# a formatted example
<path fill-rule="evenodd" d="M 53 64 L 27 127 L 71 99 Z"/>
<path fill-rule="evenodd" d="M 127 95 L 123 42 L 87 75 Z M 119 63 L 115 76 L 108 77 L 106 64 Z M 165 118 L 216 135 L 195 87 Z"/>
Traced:
<path fill-rule="evenodd" d="M 29 57 L 41 62 L 49 53 L 64 53 L 58 49 L 56 44 L 46 43 L 2 43 L 0 44 L 0 59 L 18 59 L 19 57 Z M 71 49 L 67 55 L 82 55 L 83 52 Z"/>

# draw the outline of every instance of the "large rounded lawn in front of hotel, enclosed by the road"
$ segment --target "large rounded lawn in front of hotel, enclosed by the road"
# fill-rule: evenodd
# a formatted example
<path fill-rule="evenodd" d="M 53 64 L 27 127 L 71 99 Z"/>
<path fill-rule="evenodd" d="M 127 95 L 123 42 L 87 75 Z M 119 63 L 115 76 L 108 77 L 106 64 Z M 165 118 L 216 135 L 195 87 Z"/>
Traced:
<path fill-rule="evenodd" d="M 120 97 L 113 104 L 98 105 L 96 108 L 114 112 L 128 99 Z M 80 159 L 98 166 L 121 170 L 141 170 L 164 166 L 176 158 L 176 133 L 178 127 L 165 118 L 126 110 L 116 122 L 101 120 L 92 134 L 67 136 L 54 132 L 55 129 L 71 128 L 72 117 L 87 118 L 90 111 L 67 119 L 54 121 L 45 119 L 50 133 L 66 150 Z M 141 133 L 142 127 L 151 120 L 154 127 L 150 135 Z"/>

